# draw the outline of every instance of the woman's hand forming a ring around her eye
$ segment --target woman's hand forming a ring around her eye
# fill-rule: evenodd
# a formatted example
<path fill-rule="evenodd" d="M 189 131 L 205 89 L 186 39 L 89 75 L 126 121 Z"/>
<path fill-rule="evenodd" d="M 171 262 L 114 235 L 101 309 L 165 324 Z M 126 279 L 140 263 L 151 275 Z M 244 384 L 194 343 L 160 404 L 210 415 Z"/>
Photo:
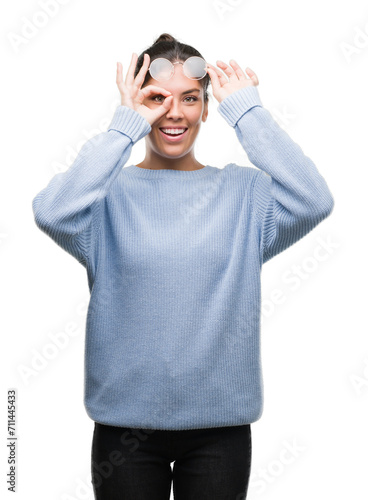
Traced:
<path fill-rule="evenodd" d="M 137 60 L 137 54 L 133 53 L 125 82 L 123 82 L 123 65 L 120 62 L 117 63 L 116 84 L 121 95 L 121 105 L 137 111 L 152 126 L 161 116 L 168 112 L 173 97 L 171 92 L 155 85 L 147 85 L 141 89 L 148 71 L 150 57 L 148 54 L 144 54 L 143 65 L 134 78 Z M 144 99 L 151 94 L 161 94 L 164 97 L 161 106 L 155 106 L 154 109 L 151 109 L 143 104 Z"/>

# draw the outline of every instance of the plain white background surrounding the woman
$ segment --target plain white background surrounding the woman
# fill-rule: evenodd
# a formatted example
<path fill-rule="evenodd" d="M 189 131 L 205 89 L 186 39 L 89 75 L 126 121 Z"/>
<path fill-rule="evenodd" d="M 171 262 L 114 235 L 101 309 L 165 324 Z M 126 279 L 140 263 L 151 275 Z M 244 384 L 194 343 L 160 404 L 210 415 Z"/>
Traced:
<path fill-rule="evenodd" d="M 329 218 L 263 267 L 265 405 L 252 424 L 247 498 L 366 500 L 366 1 L 54 0 L 49 14 L 45 4 L 6 2 L 0 16 L 1 495 L 11 497 L 6 395 L 15 387 L 17 498 L 93 499 L 93 422 L 83 406 L 87 275 L 36 227 L 31 203 L 87 138 L 106 130 L 119 104 L 116 62 L 125 77 L 132 52 L 169 32 L 212 64 L 235 59 L 256 72 L 264 107 L 335 199 Z M 251 165 L 217 104 L 212 97 L 196 158 Z M 139 141 L 127 165 L 142 161 L 144 148 Z M 298 287 L 287 280 L 296 272 Z M 70 323 L 77 335 L 22 376 Z M 295 455 L 286 451 L 293 445 Z"/>

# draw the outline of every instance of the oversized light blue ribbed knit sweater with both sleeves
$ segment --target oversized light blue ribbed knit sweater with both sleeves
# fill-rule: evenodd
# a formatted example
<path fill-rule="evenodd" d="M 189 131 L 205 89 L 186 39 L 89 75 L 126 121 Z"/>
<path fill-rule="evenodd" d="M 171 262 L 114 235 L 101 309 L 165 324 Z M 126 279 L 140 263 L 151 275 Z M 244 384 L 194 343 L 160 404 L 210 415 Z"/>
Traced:
<path fill-rule="evenodd" d="M 257 87 L 217 109 L 258 168 L 123 168 L 151 126 L 118 106 L 33 199 L 37 226 L 87 271 L 84 404 L 96 422 L 181 430 L 262 415 L 262 264 L 334 199 Z"/>

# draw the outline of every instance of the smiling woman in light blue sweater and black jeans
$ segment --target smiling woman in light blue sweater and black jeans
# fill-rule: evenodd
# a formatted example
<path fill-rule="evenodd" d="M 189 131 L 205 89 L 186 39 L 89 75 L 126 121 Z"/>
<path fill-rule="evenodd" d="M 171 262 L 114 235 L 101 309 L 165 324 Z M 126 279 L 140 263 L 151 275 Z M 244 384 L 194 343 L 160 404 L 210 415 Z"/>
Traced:
<path fill-rule="evenodd" d="M 168 500 L 172 482 L 175 500 L 246 498 L 263 411 L 261 268 L 334 206 L 256 74 L 217 66 L 168 34 L 133 54 L 125 80 L 118 64 L 108 130 L 33 200 L 38 227 L 88 275 L 98 500 Z M 258 168 L 196 160 L 209 83 Z M 143 137 L 144 160 L 124 167 Z"/>

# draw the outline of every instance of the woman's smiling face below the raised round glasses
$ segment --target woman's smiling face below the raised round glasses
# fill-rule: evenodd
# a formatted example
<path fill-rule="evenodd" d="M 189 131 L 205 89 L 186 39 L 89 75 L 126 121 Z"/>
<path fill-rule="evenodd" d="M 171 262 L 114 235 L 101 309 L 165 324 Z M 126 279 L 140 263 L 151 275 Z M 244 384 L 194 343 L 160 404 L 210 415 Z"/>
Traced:
<path fill-rule="evenodd" d="M 199 80 L 187 78 L 182 64 L 175 64 L 174 68 L 175 73 L 170 80 L 159 82 L 150 78 L 147 82 L 147 85 L 170 91 L 173 96 L 169 111 L 152 125 L 151 132 L 146 136 L 146 146 L 166 158 L 182 157 L 192 149 L 201 123 L 206 121 L 208 115 L 208 103 L 204 102 L 204 91 Z M 155 93 L 147 97 L 143 104 L 155 109 L 162 106 L 163 101 L 164 96 Z M 182 135 L 173 136 L 162 131 L 166 128 L 186 130 Z"/>

